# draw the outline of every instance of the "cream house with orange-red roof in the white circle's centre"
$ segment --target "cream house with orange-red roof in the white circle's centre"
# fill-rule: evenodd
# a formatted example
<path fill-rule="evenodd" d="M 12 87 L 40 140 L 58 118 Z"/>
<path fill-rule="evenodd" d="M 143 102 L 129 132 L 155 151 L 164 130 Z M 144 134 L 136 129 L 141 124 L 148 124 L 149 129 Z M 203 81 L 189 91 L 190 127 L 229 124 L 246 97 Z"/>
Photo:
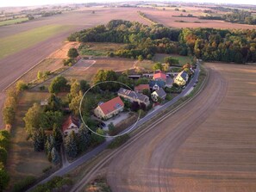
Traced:
<path fill-rule="evenodd" d="M 123 111 L 124 104 L 119 96 L 108 102 L 99 102 L 97 108 L 94 109 L 94 114 L 101 119 L 107 120 L 114 115 L 117 115 Z"/>

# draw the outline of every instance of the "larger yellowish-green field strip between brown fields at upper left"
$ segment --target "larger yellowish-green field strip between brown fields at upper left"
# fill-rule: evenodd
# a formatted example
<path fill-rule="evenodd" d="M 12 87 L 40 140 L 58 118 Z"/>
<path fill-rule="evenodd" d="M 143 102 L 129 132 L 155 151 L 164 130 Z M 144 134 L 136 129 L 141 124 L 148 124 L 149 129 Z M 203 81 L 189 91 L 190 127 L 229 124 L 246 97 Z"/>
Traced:
<path fill-rule="evenodd" d="M 37 43 L 53 37 L 54 34 L 63 32 L 70 27 L 63 25 L 48 25 L 41 28 L 34 28 L 20 34 L 11 35 L 0 39 L 0 59 L 7 57 L 13 53 L 17 53 L 22 49 L 34 46 Z"/>

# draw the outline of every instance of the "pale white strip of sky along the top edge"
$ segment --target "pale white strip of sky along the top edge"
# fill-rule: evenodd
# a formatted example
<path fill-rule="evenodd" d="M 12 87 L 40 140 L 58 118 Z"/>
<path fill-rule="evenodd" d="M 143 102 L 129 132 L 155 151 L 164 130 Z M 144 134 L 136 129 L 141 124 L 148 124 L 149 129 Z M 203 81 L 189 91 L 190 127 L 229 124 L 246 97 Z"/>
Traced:
<path fill-rule="evenodd" d="M 31 2 L 30 0 L 9 0 L 4 1 L 0 3 L 0 7 L 29 7 L 29 6 L 40 6 L 40 5 L 54 5 L 54 4 L 78 4 L 78 3 L 136 3 L 136 2 L 147 2 L 142 0 L 129 0 L 129 1 L 123 1 L 123 0 L 44 0 L 43 2 L 40 0 L 34 0 Z M 211 0 L 188 0 L 186 2 L 184 1 L 148 1 L 152 3 L 215 3 L 215 4 L 234 4 L 234 5 L 256 5 L 256 2 L 252 2 L 250 0 L 245 0 L 242 3 L 240 0 L 215 0 L 215 2 L 212 2 Z"/>

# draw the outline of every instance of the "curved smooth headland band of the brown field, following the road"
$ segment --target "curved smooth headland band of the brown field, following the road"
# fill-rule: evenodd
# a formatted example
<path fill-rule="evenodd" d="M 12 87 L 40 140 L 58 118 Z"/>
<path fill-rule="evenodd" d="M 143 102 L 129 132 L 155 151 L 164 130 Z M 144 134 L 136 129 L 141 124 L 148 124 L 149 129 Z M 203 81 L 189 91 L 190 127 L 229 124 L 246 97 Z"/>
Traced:
<path fill-rule="evenodd" d="M 107 170 L 111 189 L 180 191 L 172 184 L 173 159 L 190 134 L 220 105 L 227 86 L 220 73 L 209 69 L 208 85 L 199 96 L 112 159 Z"/>

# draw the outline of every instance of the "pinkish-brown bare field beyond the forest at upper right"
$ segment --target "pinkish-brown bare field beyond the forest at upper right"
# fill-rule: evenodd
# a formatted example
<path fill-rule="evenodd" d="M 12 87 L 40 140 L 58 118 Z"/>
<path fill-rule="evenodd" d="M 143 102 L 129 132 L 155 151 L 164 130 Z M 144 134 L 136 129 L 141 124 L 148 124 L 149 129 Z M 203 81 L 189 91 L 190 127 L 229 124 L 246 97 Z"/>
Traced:
<path fill-rule="evenodd" d="M 183 8 L 179 8 L 183 9 Z M 187 9 L 187 8 L 184 8 Z M 256 28 L 253 25 L 223 22 L 217 20 L 200 20 L 197 17 L 173 17 L 172 15 L 202 15 L 202 9 L 190 10 L 187 12 L 174 11 L 173 9 L 159 10 L 159 9 L 145 9 L 143 12 L 147 15 L 148 18 L 153 19 L 155 22 L 164 24 L 172 28 L 244 28 L 252 29 Z M 175 22 L 183 21 L 183 22 Z M 199 23 L 197 23 L 199 22 Z"/>

